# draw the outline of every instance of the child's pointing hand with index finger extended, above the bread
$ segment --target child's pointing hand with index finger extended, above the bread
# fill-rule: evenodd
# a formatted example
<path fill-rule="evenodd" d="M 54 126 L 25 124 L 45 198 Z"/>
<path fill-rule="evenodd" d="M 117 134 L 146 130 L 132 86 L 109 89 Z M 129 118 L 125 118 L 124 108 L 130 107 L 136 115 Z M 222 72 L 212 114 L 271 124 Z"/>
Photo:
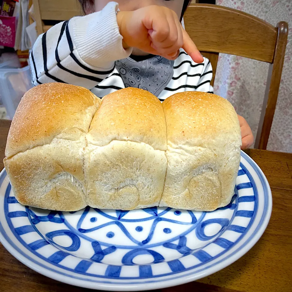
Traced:
<path fill-rule="evenodd" d="M 196 63 L 203 57 L 182 28 L 176 13 L 164 6 L 150 5 L 135 11 L 119 11 L 117 22 L 123 36 L 123 47 L 174 60 L 183 48 Z"/>

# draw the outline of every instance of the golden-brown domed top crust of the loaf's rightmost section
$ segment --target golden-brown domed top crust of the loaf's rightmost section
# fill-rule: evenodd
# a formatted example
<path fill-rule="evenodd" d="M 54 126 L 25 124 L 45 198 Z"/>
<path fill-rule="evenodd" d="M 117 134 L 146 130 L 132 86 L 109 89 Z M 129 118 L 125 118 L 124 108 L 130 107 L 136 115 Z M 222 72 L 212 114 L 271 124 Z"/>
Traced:
<path fill-rule="evenodd" d="M 168 143 L 206 147 L 220 137 L 226 140 L 229 135 L 238 136 L 239 122 L 233 106 L 215 94 L 179 92 L 165 99 L 162 106 Z"/>

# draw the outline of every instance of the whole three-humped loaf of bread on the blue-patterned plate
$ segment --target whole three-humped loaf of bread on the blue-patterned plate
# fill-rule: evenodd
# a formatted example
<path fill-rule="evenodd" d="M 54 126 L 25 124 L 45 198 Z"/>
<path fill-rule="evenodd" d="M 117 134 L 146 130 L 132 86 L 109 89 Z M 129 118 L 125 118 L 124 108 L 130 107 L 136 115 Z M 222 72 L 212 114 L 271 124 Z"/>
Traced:
<path fill-rule="evenodd" d="M 23 96 L 4 165 L 24 205 L 210 211 L 231 200 L 240 145 L 234 108 L 214 94 L 182 92 L 161 103 L 126 88 L 100 100 L 49 83 Z"/>

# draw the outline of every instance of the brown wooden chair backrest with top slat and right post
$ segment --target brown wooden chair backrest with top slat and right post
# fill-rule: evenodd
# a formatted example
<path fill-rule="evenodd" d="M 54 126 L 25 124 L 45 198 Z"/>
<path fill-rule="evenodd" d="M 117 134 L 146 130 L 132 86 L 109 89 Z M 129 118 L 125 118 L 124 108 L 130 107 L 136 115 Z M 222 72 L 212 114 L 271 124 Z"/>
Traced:
<path fill-rule="evenodd" d="M 225 53 L 270 63 L 266 92 L 255 138 L 255 147 L 266 149 L 279 92 L 288 24 L 277 27 L 245 12 L 208 4 L 191 5 L 184 15 L 189 36 L 209 58 L 213 79 L 218 54 Z"/>

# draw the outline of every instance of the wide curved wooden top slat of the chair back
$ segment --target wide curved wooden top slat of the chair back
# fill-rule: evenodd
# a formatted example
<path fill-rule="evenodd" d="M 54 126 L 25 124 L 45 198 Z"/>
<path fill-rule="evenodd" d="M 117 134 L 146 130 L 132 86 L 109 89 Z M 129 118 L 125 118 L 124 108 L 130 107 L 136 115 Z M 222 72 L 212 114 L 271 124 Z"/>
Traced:
<path fill-rule="evenodd" d="M 211 4 L 189 6 L 186 31 L 199 50 L 272 63 L 277 30 L 250 14 Z"/>

